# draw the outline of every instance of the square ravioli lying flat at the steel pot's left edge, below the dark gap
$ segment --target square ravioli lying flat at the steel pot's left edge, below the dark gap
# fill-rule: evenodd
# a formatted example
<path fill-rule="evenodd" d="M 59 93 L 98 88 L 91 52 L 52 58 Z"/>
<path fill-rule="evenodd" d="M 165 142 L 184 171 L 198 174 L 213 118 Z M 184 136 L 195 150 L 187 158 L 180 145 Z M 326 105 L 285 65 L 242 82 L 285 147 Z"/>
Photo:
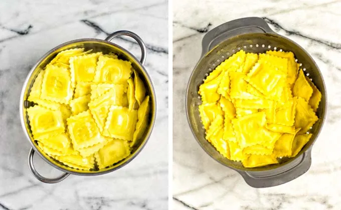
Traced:
<path fill-rule="evenodd" d="M 64 132 L 64 120 L 60 110 L 51 110 L 40 105 L 27 108 L 35 139 L 48 138 Z"/>

